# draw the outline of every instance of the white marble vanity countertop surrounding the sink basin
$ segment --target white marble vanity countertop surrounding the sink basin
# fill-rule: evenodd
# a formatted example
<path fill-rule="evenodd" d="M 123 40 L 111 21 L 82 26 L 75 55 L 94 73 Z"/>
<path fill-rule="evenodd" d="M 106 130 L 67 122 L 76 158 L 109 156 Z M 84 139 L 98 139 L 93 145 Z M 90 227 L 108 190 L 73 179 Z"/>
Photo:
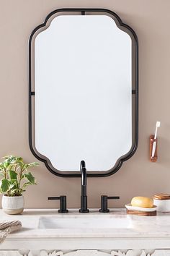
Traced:
<path fill-rule="evenodd" d="M 88 229 L 88 227 L 86 227 L 86 229 L 38 229 L 40 217 L 95 219 L 102 218 L 101 221 L 104 221 L 104 218 L 115 218 L 117 220 L 119 219 L 119 221 L 120 219 L 122 221 L 128 219 L 129 224 L 127 227 L 124 226 L 122 228 L 109 229 Z M 164 242 L 166 241 L 168 242 L 170 248 L 170 213 L 158 213 L 157 216 L 146 217 L 127 215 L 125 209 L 111 209 L 109 213 L 99 213 L 97 209 L 90 210 L 90 213 L 79 213 L 77 209 L 72 209 L 69 210 L 69 213 L 64 214 L 58 213 L 58 210 L 55 209 L 29 209 L 24 210 L 24 213 L 22 213 L 22 215 L 9 216 L 6 215 L 2 210 L 0 210 L 0 220 L 18 220 L 22 222 L 22 230 L 13 234 L 9 234 L 6 240 L 2 244 L 0 244 L 0 249 L 18 249 L 17 244 L 19 243 L 19 248 L 25 248 L 25 246 L 28 245 L 27 243 L 29 243 L 29 241 L 32 242 L 32 244 L 35 244 L 37 242 L 37 244 L 39 244 L 39 247 L 40 243 L 42 244 L 42 241 L 46 241 L 46 245 L 48 244 L 48 248 L 45 248 L 53 249 L 51 248 L 51 246 L 54 241 L 60 241 L 61 244 L 62 242 L 65 242 L 66 244 L 67 239 L 72 239 L 73 242 L 75 242 L 76 240 L 79 240 L 79 242 L 81 242 L 82 239 L 86 239 L 86 242 L 92 241 L 91 239 L 95 239 L 96 242 L 99 242 L 100 239 L 105 239 L 101 240 L 105 242 L 118 242 L 120 240 L 124 242 L 134 242 L 134 244 L 136 239 L 140 239 L 141 243 L 142 241 L 146 242 L 145 245 L 149 245 L 149 241 L 151 241 L 151 239 L 154 239 L 155 245 L 156 242 L 161 242 L 163 246 Z M 14 245 L 14 242 L 17 242 L 17 244 Z M 161 246 L 161 244 L 159 245 L 159 247 Z M 168 245 L 166 247 L 168 247 Z M 76 245 L 74 246 L 74 248 L 76 248 Z"/>

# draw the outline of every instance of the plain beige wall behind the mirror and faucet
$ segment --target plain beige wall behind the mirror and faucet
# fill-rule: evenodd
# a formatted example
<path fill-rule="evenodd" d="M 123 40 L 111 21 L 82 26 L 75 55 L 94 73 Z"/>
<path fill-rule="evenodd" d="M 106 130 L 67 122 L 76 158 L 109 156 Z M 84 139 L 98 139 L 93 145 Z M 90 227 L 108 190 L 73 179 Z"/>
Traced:
<path fill-rule="evenodd" d="M 139 40 L 140 124 L 138 150 L 113 176 L 88 180 L 89 207 L 100 195 L 120 195 L 110 207 L 123 207 L 135 195 L 170 192 L 170 1 L 169 0 L 0 0 L 0 156 L 22 155 L 36 161 L 28 145 L 27 41 L 46 15 L 61 7 L 97 7 L 116 12 Z M 158 162 L 148 161 L 148 136 L 156 121 Z M 48 196 L 67 195 L 68 207 L 80 205 L 81 181 L 53 176 L 43 163 L 34 174 L 37 186 L 25 192 L 26 208 L 55 208 Z"/>

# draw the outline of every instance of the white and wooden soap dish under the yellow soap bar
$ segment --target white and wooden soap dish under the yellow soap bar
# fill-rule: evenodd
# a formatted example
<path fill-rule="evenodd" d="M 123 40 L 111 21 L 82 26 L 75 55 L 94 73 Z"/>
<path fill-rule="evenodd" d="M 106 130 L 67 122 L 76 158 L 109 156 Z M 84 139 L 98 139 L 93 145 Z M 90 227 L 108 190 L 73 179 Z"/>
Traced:
<path fill-rule="evenodd" d="M 125 205 L 128 214 L 134 214 L 139 216 L 156 216 L 156 205 L 152 208 L 143 208 L 138 206 L 132 206 L 130 203 Z"/>

